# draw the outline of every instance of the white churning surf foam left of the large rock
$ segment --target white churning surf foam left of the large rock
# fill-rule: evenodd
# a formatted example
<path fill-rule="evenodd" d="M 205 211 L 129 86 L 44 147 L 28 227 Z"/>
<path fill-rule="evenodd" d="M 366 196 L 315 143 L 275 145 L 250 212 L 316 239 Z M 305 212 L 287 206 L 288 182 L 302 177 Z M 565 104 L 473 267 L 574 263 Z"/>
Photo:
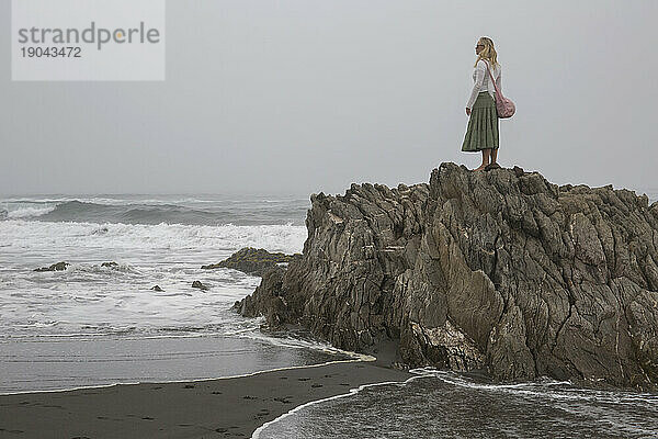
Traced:
<path fill-rule="evenodd" d="M 228 309 L 260 279 L 202 270 L 242 247 L 302 250 L 293 225 L 192 226 L 0 222 L 0 334 L 226 334 L 243 329 Z M 34 272 L 57 261 L 65 271 Z M 104 261 L 116 266 L 102 267 Z M 198 280 L 208 291 L 192 288 Z M 163 291 L 151 290 L 159 285 Z M 220 325 L 222 327 L 217 327 Z M 55 330 L 53 330 L 55 329 Z"/>

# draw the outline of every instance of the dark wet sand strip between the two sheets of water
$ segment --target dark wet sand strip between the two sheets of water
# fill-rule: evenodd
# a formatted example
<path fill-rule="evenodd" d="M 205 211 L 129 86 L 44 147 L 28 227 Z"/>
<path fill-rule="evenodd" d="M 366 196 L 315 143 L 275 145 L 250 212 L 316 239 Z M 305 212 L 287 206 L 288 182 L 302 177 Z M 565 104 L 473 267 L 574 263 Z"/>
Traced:
<path fill-rule="evenodd" d="M 296 406 L 409 373 L 334 363 L 189 383 L 0 396 L 0 438 L 248 438 Z"/>

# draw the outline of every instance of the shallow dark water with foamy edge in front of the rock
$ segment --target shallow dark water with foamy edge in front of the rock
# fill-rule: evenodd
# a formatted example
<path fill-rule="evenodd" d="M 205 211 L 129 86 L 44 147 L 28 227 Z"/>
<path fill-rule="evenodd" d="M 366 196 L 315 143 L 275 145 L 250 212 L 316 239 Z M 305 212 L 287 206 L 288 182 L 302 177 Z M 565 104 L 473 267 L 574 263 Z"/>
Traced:
<path fill-rule="evenodd" d="M 311 404 L 265 426 L 283 438 L 656 438 L 658 395 L 570 383 L 496 385 L 420 371 L 405 384 L 368 386 Z"/>

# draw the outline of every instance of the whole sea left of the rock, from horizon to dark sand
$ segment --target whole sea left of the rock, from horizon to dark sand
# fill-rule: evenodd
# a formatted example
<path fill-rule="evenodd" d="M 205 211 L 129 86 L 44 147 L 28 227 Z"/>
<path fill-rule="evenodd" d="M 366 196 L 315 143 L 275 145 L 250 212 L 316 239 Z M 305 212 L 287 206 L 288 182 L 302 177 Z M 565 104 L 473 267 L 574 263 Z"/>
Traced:
<path fill-rule="evenodd" d="M 209 379 L 347 358 L 322 344 L 262 334 L 260 319 L 230 309 L 260 278 L 201 269 L 242 247 L 299 252 L 307 209 L 306 199 L 0 201 L 0 393 Z M 70 266 L 33 271 L 58 261 Z M 196 280 L 209 289 L 192 288 Z"/>

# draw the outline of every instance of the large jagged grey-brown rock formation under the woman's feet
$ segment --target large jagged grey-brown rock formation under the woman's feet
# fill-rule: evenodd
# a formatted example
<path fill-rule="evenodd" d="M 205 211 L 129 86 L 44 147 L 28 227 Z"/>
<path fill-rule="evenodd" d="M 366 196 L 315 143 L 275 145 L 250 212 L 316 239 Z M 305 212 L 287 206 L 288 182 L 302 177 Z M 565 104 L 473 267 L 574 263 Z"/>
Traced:
<path fill-rule="evenodd" d="M 333 345 L 498 380 L 658 383 L 658 203 L 520 168 L 443 164 L 430 184 L 311 196 L 299 260 L 243 315 Z"/>

